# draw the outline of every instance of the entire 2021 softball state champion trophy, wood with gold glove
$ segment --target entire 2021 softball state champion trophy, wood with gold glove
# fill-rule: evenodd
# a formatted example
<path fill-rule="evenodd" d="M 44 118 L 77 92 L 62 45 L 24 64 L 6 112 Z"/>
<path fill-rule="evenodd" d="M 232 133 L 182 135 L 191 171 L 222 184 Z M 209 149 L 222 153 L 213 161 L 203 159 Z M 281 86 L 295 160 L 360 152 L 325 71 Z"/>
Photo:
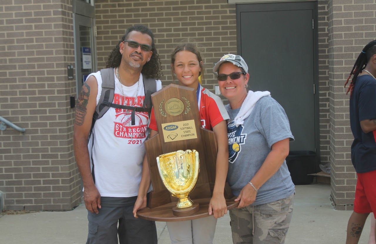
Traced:
<path fill-rule="evenodd" d="M 145 147 L 153 191 L 148 207 L 137 216 L 152 221 L 207 217 L 217 142 L 215 133 L 201 125 L 196 92 L 170 84 L 155 92 L 152 102 L 158 134 L 145 141 Z M 227 183 L 224 197 L 227 209 L 238 205 Z"/>

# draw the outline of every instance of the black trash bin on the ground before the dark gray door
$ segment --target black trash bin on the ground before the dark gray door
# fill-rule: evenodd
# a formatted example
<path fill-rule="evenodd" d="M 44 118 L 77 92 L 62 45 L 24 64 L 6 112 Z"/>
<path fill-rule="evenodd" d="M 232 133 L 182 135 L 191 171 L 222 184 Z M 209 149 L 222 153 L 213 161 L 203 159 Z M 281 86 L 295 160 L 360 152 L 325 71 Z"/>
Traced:
<path fill-rule="evenodd" d="M 286 164 L 295 185 L 308 185 L 313 182 L 316 153 L 313 151 L 290 151 Z"/>

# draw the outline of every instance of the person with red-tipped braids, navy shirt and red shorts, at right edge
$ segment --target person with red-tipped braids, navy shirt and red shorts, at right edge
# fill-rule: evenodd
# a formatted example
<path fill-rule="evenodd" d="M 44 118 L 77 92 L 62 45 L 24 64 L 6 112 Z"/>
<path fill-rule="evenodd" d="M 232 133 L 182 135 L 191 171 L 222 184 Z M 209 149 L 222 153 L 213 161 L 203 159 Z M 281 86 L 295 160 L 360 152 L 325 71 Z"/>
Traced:
<path fill-rule="evenodd" d="M 376 40 L 359 54 L 345 87 L 351 76 L 346 94 L 350 92 L 351 161 L 358 180 L 346 244 L 357 244 L 368 215 L 376 217 Z"/>

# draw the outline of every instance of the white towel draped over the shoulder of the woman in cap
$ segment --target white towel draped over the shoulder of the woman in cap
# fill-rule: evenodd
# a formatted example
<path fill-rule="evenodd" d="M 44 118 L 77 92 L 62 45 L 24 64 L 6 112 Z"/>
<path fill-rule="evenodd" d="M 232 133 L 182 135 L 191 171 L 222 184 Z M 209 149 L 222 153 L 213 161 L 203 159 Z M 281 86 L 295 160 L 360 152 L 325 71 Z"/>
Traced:
<path fill-rule="evenodd" d="M 234 122 L 235 126 L 238 127 L 239 125 L 244 123 L 244 120 L 248 118 L 252 109 L 255 107 L 255 104 L 261 97 L 270 96 L 270 92 L 268 91 L 249 91 L 246 99 L 244 99 L 243 104 L 240 107 L 238 115 L 235 117 Z"/>

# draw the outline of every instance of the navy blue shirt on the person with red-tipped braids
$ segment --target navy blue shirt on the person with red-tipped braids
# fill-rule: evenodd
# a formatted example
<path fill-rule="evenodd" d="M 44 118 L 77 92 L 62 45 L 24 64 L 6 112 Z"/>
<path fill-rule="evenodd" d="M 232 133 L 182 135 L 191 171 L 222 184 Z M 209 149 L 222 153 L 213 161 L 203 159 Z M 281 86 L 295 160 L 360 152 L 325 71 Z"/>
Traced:
<path fill-rule="evenodd" d="M 350 126 L 354 135 L 351 160 L 356 173 L 376 170 L 376 132 L 364 133 L 360 121 L 376 119 L 376 80 L 358 76 L 350 98 Z"/>

